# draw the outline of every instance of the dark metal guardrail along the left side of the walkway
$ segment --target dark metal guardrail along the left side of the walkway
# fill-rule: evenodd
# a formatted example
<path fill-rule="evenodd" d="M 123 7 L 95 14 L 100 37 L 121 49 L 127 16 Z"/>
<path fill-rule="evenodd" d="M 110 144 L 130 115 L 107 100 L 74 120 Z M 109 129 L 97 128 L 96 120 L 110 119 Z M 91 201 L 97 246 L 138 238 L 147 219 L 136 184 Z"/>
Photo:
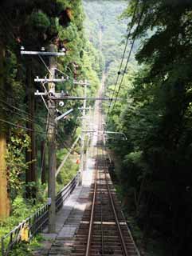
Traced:
<path fill-rule="evenodd" d="M 74 178 L 72 178 L 71 182 L 69 182 L 58 194 L 56 198 L 56 210 L 60 210 L 65 202 L 66 198 L 72 193 L 76 184 L 78 183 L 79 173 L 76 174 Z M 10 250 L 16 245 L 18 242 L 21 242 L 21 233 L 22 230 L 27 226 L 27 230 L 29 232 L 29 240 L 31 240 L 37 233 L 45 228 L 48 223 L 48 204 L 42 206 L 39 210 L 37 210 L 34 214 L 26 218 L 23 222 L 19 223 L 18 226 L 11 230 L 10 233 L 6 234 L 1 238 L 2 243 L 2 256 L 9 255 Z"/>

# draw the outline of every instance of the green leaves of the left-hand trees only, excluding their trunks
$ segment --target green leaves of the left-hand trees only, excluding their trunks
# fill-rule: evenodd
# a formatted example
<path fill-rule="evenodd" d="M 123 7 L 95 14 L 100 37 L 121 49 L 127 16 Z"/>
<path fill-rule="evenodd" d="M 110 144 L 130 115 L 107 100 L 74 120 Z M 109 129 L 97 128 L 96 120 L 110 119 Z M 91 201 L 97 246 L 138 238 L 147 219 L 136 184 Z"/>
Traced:
<path fill-rule="evenodd" d="M 25 46 L 26 50 L 40 50 L 45 46 L 46 50 L 50 43 L 57 44 L 58 50 L 65 46 L 67 53 L 64 58 L 59 58 L 58 69 L 70 77 L 69 82 L 59 84 L 57 90 L 68 90 L 71 95 L 82 96 L 83 88 L 75 87 L 72 84 L 74 79 L 80 80 L 90 78 L 92 91 L 96 90 L 99 83 L 96 70 L 99 70 L 99 59 L 96 50 L 94 58 L 92 52 L 94 48 L 87 47 L 87 39 L 84 38 L 83 20 L 84 12 L 80 0 L 59 0 L 55 1 L 29 1 L 29 2 L 11 2 L 1 10 L 7 14 L 6 18 L 0 21 L 1 34 L 4 30 L 9 31 L 4 38 L 6 42 L 6 63 L 5 63 L 5 98 L 10 106 L 0 103 L 2 111 L 6 112 L 6 121 L 10 125 L 6 126 L 7 134 L 7 174 L 9 179 L 9 192 L 12 199 L 11 216 L 1 222 L 0 236 L 9 232 L 18 222 L 28 217 L 42 202 L 45 201 L 46 184 L 41 185 L 39 180 L 41 176 L 41 141 L 45 140 L 46 129 L 46 109 L 42 108 L 41 99 L 35 98 L 34 106 L 29 106 L 29 98 L 33 99 L 35 90 L 41 90 L 37 83 L 33 84 L 34 75 L 44 77 L 47 74 L 45 66 L 38 62 L 37 58 L 21 58 L 20 46 Z M 3 15 L 4 16 L 4 15 Z M 17 26 L 16 26 L 17 25 Z M 84 67 L 84 52 L 90 57 L 90 69 Z M 88 52 L 89 51 L 89 52 Z M 49 65 L 48 59 L 45 63 Z M 57 72 L 57 77 L 61 74 Z M 29 85 L 31 88 L 29 88 Z M 34 90 L 34 91 L 33 91 Z M 72 117 L 60 122 L 58 125 L 57 146 L 61 148 L 63 141 L 69 139 L 73 141 L 76 136 L 76 117 L 80 114 L 77 109 L 81 102 L 68 102 L 67 109 L 73 107 Z M 14 109 L 14 107 L 18 109 Z M 60 108 L 59 106 L 57 106 Z M 29 109 L 31 108 L 31 109 Z M 64 109 L 62 108 L 61 111 Z M 29 112 L 29 114 L 28 114 Z M 33 114 L 31 114 L 33 112 Z M 1 116 L 1 118 L 3 118 Z M 11 123 L 16 128 L 11 130 Z M 18 125 L 18 127 L 17 127 Z M 2 122 L 1 122 L 2 126 Z M 31 136 L 31 130 L 34 130 L 37 148 L 37 181 L 25 184 L 25 170 L 29 167 L 29 162 L 25 162 L 25 153 L 31 150 L 29 136 L 20 126 L 26 126 L 27 133 Z M 32 127 L 31 127 L 32 126 Z M 48 163 L 47 148 L 45 150 L 46 163 Z M 58 150 L 58 154 L 60 151 Z M 61 153 L 63 158 L 66 151 Z M 60 162 L 60 161 L 59 161 Z M 71 158 L 66 162 L 61 174 L 57 178 L 57 190 L 61 190 L 66 183 L 76 174 L 78 166 Z M 35 188 L 36 206 L 33 206 L 34 200 L 25 199 L 25 190 Z M 26 246 L 28 247 L 28 246 Z M 25 249 L 25 248 L 24 248 Z M 25 251 L 25 250 L 23 250 Z M 13 255 L 27 254 L 18 248 Z"/>

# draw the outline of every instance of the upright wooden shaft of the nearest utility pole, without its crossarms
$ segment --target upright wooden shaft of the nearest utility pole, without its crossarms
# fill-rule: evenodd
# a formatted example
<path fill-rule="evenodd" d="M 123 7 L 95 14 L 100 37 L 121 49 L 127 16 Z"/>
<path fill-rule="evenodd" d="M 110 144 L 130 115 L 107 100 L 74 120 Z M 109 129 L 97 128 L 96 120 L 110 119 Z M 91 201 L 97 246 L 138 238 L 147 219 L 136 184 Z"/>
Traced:
<path fill-rule="evenodd" d="M 50 52 L 56 51 L 56 46 L 50 45 Z M 49 57 L 49 79 L 55 78 L 55 68 L 56 68 L 56 58 L 51 56 Z M 55 93 L 55 84 L 53 82 L 49 82 L 49 95 L 53 95 Z M 48 179 L 48 198 L 49 198 L 49 233 L 56 232 L 56 168 L 57 168 L 57 143 L 56 143 L 56 126 L 57 123 L 55 121 L 56 118 L 56 103 L 49 99 L 49 129 L 48 129 L 48 142 L 49 142 L 49 179 Z"/>

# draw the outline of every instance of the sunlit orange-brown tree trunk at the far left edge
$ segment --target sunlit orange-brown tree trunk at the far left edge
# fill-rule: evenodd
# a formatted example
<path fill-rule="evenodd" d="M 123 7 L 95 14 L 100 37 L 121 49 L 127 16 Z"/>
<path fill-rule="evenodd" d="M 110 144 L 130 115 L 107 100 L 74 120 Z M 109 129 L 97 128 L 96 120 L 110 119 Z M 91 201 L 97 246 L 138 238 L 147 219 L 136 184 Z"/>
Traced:
<path fill-rule="evenodd" d="M 5 47 L 0 42 L 0 95 L 5 99 L 4 86 L 4 61 Z M 5 114 L 0 108 L 0 117 L 5 119 Z M 0 123 L 0 218 L 6 218 L 10 215 L 10 198 L 7 190 L 7 174 L 6 174 L 6 127 Z"/>

